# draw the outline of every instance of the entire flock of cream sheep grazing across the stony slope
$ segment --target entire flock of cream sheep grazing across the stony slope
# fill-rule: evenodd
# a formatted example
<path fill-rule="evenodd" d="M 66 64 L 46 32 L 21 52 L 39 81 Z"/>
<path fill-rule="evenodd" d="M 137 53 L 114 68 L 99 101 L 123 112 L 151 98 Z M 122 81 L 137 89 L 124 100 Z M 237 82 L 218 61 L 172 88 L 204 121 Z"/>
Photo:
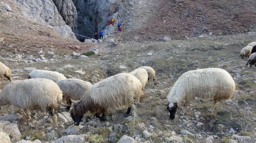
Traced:
<path fill-rule="evenodd" d="M 240 56 L 249 57 L 248 62 L 252 66 L 256 62 L 255 52 L 256 42 L 252 42 L 241 50 Z M 34 70 L 28 79 L 12 81 L 10 68 L 0 62 L 0 78 L 8 78 L 11 81 L 0 92 L 0 108 L 12 104 L 24 109 L 28 120 L 31 119 L 28 110 L 43 109 L 52 118 L 52 127 L 56 128 L 57 117 L 54 109 L 62 102 L 62 98 L 66 98 L 67 110 L 71 108 L 71 99 L 80 100 L 74 103 L 70 111 L 77 126 L 88 111 L 103 121 L 106 120 L 105 114 L 108 110 L 128 107 L 125 115 L 129 115 L 133 101 L 139 103 L 147 82 L 151 79 L 155 83 L 155 70 L 146 66 L 139 67 L 130 73 L 108 77 L 94 85 L 80 79 L 66 79 L 61 73 L 46 70 Z M 217 102 L 232 97 L 235 87 L 231 75 L 220 68 L 185 72 L 177 79 L 167 96 L 166 106 L 170 119 L 175 118 L 178 105 L 183 101 L 184 108 L 180 114 L 184 115 L 189 101 L 196 96 L 213 99 L 213 104 L 208 110 L 212 112 Z"/>

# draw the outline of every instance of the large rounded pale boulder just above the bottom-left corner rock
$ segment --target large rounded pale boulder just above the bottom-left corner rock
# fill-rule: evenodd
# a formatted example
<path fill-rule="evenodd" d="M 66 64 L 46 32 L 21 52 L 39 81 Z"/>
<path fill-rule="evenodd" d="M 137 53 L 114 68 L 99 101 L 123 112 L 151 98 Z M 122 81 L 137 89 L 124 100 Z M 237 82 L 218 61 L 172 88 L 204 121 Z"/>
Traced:
<path fill-rule="evenodd" d="M 11 138 L 12 142 L 17 142 L 22 138 L 22 134 L 18 129 L 18 125 L 15 123 L 10 123 L 6 125 L 3 130 Z"/>

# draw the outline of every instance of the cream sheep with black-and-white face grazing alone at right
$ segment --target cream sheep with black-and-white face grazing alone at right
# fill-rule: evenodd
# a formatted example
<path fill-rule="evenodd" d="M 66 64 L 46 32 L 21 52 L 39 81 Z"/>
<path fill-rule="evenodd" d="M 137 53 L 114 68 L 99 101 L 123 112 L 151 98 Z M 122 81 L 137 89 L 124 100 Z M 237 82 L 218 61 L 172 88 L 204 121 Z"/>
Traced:
<path fill-rule="evenodd" d="M 198 69 L 185 72 L 171 88 L 167 99 L 167 109 L 170 112 L 170 119 L 175 118 L 178 105 L 185 100 L 184 108 L 180 114 L 184 115 L 189 101 L 200 97 L 213 99 L 212 112 L 217 102 L 230 99 L 236 85 L 231 75 L 220 68 Z"/>

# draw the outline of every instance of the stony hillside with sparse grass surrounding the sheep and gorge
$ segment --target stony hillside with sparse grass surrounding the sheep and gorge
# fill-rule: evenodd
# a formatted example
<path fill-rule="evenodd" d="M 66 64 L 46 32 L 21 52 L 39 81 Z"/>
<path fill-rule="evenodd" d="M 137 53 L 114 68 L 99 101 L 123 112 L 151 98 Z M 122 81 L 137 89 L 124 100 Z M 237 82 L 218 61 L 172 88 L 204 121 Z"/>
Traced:
<path fill-rule="evenodd" d="M 0 61 L 11 68 L 12 79 L 26 79 L 32 70 L 39 69 L 57 71 L 67 78 L 82 79 L 95 84 L 117 73 L 131 72 L 140 66 L 151 66 L 156 71 L 157 84 L 154 85 L 152 81 L 147 83 L 143 90 L 144 96 L 129 117 L 124 116 L 125 108 L 108 112 L 107 121 L 101 121 L 88 112 L 84 114 L 80 126 L 74 126 L 70 111 L 65 109 L 66 101 L 63 101 L 55 109 L 58 118 L 56 130 L 52 130 L 52 121 L 43 110 L 29 111 L 31 120 L 26 120 L 23 110 L 17 111 L 13 105 L 1 106 L 0 142 L 256 142 L 256 67 L 245 66 L 247 59 L 239 57 L 243 47 L 256 41 L 255 32 L 242 31 L 252 31 L 255 28 L 252 22 L 254 15 L 251 15 L 252 19 L 242 19 L 241 16 L 246 16 L 250 8 L 240 10 L 239 7 L 253 7 L 255 1 L 245 0 L 241 3 L 235 0 L 237 4 L 228 4 L 226 0 L 219 3 L 199 3 L 197 0 L 104 0 L 112 3 L 114 10 L 117 10 L 117 7 L 122 10 L 115 11 L 112 15 L 121 15 L 121 19 L 117 17 L 117 20 L 122 20 L 125 24 L 125 31 L 118 42 L 120 32 L 117 32 L 115 26 L 105 29 L 113 33 L 103 41 L 80 42 L 74 39 L 71 31 L 79 28 L 77 24 L 81 16 L 81 11 L 74 9 L 74 6 L 81 5 L 78 2 L 88 2 L 86 6 L 91 7 L 90 11 L 93 11 L 93 8 L 97 9 L 100 4 L 89 0 L 76 2 L 0 0 Z M 94 4 L 97 6 L 94 7 Z M 202 7 L 202 11 L 194 9 L 197 5 Z M 222 7 L 211 8 L 213 6 Z M 192 22 L 181 18 L 187 8 L 191 16 L 186 19 Z M 73 15 L 76 14 L 74 10 L 77 17 Z M 167 13 L 169 11 L 170 13 Z M 225 15 L 218 15 L 221 12 L 225 12 Z M 227 18 L 231 13 L 234 18 Z M 211 25 L 208 21 L 213 19 L 210 16 L 205 18 L 205 23 L 200 23 L 200 20 L 195 22 L 202 15 L 210 15 L 220 22 L 229 21 L 230 30 L 236 27 L 236 22 L 243 24 L 238 26 L 240 32 L 226 33 L 227 23 L 218 24 L 218 29 L 216 24 Z M 151 19 L 156 22 L 150 21 Z M 200 38 L 189 37 L 189 34 L 193 35 L 191 29 L 183 29 L 183 26 L 178 26 L 179 23 L 184 23 L 184 27 L 189 23 L 199 27 L 204 25 L 209 31 L 194 34 L 197 36 L 204 33 Z M 66 27 L 68 32 L 58 31 L 63 27 Z M 159 32 L 161 30 L 169 33 Z M 177 30 L 177 33 L 173 34 L 171 30 Z M 209 35 L 210 32 L 212 35 Z M 218 34 L 220 32 L 222 35 Z M 182 38 L 185 36 L 188 37 Z M 207 112 L 212 100 L 195 98 L 190 101 L 185 115 L 179 114 L 183 108 L 181 103 L 178 105 L 175 119 L 170 120 L 166 109 L 166 96 L 175 81 L 186 71 L 209 67 L 222 68 L 230 73 L 236 83 L 232 98 L 218 103 L 212 113 Z M 2 79 L 1 83 L 0 89 L 3 89 L 10 82 Z"/>

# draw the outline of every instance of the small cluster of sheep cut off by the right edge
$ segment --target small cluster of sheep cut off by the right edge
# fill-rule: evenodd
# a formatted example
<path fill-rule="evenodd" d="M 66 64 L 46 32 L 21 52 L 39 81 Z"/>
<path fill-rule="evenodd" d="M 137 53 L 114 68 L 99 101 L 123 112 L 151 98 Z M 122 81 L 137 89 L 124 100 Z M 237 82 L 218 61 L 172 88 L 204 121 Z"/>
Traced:
<path fill-rule="evenodd" d="M 244 47 L 241 52 L 240 52 L 240 57 L 248 57 L 248 62 L 246 64 L 246 66 L 248 65 L 248 63 L 250 64 L 250 67 L 252 67 L 252 65 L 255 65 L 256 67 L 256 42 L 251 42 L 249 43 L 246 47 Z"/>

